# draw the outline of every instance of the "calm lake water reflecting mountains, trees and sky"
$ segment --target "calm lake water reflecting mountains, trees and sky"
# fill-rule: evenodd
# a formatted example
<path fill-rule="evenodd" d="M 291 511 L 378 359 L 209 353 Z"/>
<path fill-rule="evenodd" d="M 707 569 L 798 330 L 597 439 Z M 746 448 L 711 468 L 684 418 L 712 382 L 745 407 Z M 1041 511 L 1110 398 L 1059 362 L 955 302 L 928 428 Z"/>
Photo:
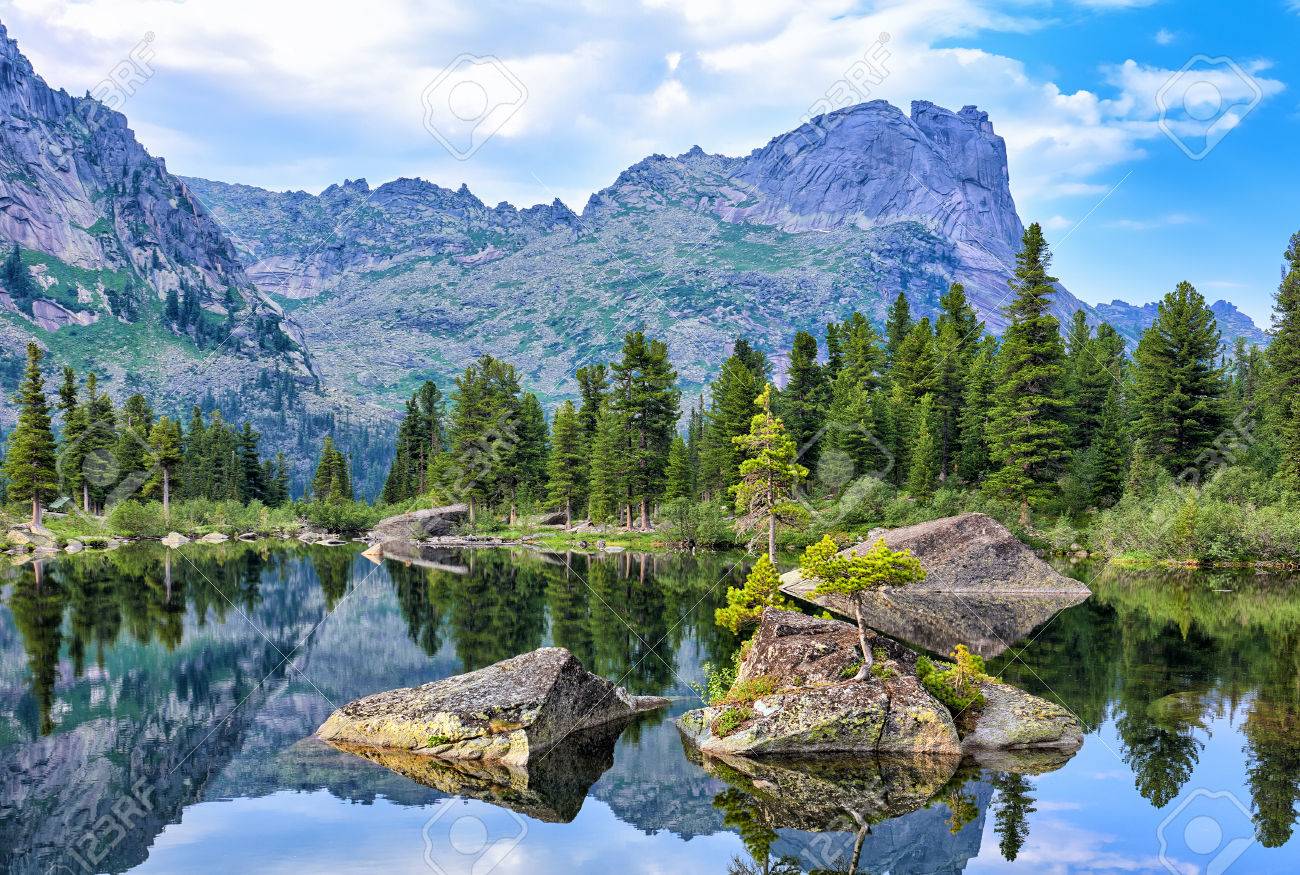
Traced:
<path fill-rule="evenodd" d="M 734 556 L 428 559 L 127 547 L 0 572 L 0 867 L 800 872 L 857 852 L 894 875 L 1300 871 L 1300 581 L 1070 572 L 1095 595 L 991 670 L 1070 707 L 1083 749 L 936 783 L 926 763 L 746 775 L 684 754 L 672 719 L 736 647 L 712 624 Z M 528 775 L 311 738 L 358 696 L 547 644 L 684 698 Z"/>

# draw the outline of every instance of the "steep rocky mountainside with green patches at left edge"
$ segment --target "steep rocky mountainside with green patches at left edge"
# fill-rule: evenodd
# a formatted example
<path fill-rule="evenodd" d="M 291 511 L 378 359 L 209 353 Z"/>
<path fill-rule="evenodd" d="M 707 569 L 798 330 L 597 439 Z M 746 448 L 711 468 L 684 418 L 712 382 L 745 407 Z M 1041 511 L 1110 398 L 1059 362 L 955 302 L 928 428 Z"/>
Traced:
<path fill-rule="evenodd" d="M 47 373 L 95 371 L 118 400 L 140 391 L 159 412 L 221 408 L 295 456 L 315 456 L 339 416 L 365 420 L 321 390 L 302 329 L 126 117 L 46 85 L 4 25 L 0 243 L 26 269 L 0 285 L 0 430 L 27 341 Z"/>

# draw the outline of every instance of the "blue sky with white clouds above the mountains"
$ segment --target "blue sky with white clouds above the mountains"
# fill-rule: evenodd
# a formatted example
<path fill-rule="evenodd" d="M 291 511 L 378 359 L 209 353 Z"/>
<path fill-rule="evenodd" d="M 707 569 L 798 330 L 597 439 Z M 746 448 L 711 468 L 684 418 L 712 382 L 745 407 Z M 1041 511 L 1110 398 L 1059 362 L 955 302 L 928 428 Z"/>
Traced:
<path fill-rule="evenodd" d="M 581 212 L 650 153 L 924 99 L 989 113 L 1084 300 L 1188 280 L 1268 325 L 1300 230 L 1300 0 L 0 0 L 0 21 L 185 176 Z"/>

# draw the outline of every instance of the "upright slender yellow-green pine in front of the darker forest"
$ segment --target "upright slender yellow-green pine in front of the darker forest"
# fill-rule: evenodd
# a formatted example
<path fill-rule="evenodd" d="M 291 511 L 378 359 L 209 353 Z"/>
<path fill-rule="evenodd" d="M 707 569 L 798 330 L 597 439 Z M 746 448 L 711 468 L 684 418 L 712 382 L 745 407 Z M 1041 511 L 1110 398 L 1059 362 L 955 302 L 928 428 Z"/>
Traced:
<path fill-rule="evenodd" d="M 749 434 L 733 438 L 745 460 L 740 463 L 736 495 L 737 525 L 741 530 L 767 529 L 767 555 L 776 562 L 776 527 L 806 516 L 794 501 L 794 490 L 809 469 L 796 462 L 798 449 L 785 433 L 785 425 L 772 415 L 772 385 L 754 400 L 759 412 L 750 421 Z"/>

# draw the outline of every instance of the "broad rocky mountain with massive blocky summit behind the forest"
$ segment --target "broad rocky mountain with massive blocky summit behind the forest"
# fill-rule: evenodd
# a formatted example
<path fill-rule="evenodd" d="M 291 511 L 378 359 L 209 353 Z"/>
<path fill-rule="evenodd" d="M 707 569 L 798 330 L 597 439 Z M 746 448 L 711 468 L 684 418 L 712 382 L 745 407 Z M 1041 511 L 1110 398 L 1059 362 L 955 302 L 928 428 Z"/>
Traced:
<path fill-rule="evenodd" d="M 812 120 L 748 156 L 653 155 L 592 195 L 488 207 L 465 186 L 364 179 L 320 195 L 186 178 L 248 276 L 292 307 L 322 378 L 394 406 L 491 352 L 545 398 L 616 355 L 623 333 L 668 341 L 688 390 L 738 334 L 777 358 L 797 329 L 854 309 L 883 324 L 900 290 L 933 316 L 950 282 L 994 332 L 1023 225 L 988 114 L 875 100 Z M 1265 335 L 1230 304 L 1225 337 Z M 1092 308 L 1130 342 L 1154 307 Z"/>

